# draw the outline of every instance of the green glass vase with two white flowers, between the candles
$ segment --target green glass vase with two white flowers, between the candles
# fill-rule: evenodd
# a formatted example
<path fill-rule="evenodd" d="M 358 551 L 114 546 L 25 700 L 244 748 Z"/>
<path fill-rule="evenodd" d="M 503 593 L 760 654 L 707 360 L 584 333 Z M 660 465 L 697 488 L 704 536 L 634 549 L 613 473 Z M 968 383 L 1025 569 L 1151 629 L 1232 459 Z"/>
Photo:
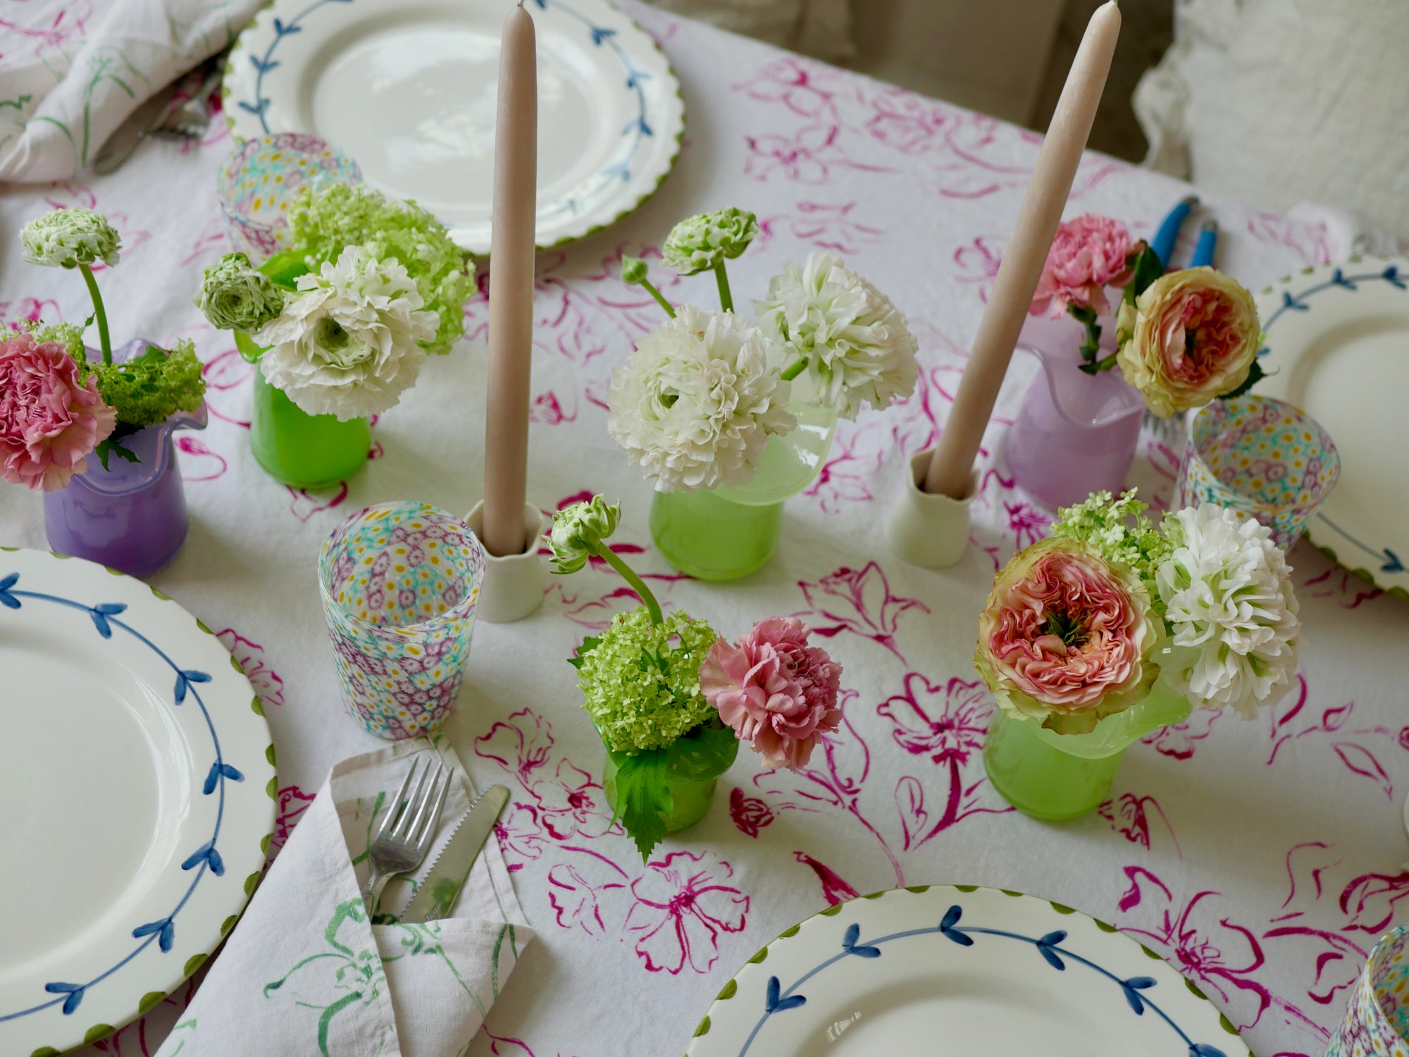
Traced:
<path fill-rule="evenodd" d="M 792 404 L 797 428 L 769 437 L 754 476 L 733 488 L 657 492 L 651 538 L 661 555 L 695 579 L 728 581 L 762 568 L 782 538 L 783 500 L 821 472 L 837 413 Z"/>

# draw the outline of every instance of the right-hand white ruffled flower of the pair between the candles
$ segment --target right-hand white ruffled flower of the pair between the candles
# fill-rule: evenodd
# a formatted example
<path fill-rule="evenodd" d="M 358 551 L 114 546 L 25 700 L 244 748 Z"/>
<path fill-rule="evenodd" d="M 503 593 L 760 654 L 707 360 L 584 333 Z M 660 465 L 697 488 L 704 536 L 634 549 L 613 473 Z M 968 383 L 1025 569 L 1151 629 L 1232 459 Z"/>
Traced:
<path fill-rule="evenodd" d="M 855 419 L 862 404 L 888 407 L 914 392 L 919 342 L 905 316 L 838 254 L 813 252 L 805 266 L 788 265 L 754 310 L 764 331 L 785 342 L 783 362 L 805 358 L 819 403 L 844 419 Z"/>

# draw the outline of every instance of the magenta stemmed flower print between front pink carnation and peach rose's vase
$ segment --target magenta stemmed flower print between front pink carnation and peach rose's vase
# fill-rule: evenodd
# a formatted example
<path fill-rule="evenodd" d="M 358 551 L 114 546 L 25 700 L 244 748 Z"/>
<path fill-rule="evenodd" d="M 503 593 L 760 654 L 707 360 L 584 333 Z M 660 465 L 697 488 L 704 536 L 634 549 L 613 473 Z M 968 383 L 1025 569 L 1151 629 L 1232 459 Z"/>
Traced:
<path fill-rule="evenodd" d="M 921 703 L 923 702 L 923 703 Z M 951 678 L 931 684 L 920 672 L 905 676 L 905 692 L 876 706 L 876 715 L 895 724 L 892 738 L 912 757 L 926 757 L 936 765 L 944 789 L 943 808 L 931 819 L 926 786 L 934 786 L 934 772 L 924 781 L 903 775 L 895 786 L 895 805 L 905 833 L 905 848 L 924 844 L 971 815 L 1000 813 L 1007 808 L 981 808 L 979 789 L 988 781 L 978 760 L 993 716 L 993 700 L 979 681 Z M 976 769 L 972 781 L 965 769 Z M 947 788 L 945 788 L 947 784 Z"/>

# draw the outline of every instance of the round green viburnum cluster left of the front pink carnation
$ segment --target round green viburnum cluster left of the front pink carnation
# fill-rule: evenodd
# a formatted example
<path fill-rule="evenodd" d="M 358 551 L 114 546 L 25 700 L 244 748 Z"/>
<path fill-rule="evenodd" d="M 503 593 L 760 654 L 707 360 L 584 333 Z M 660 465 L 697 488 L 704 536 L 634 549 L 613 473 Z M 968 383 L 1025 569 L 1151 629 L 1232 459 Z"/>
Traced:
<path fill-rule="evenodd" d="M 645 607 L 617 613 L 573 662 L 583 707 L 616 753 L 665 748 L 719 713 L 700 692 L 700 664 L 719 638 L 675 612 L 661 623 Z"/>

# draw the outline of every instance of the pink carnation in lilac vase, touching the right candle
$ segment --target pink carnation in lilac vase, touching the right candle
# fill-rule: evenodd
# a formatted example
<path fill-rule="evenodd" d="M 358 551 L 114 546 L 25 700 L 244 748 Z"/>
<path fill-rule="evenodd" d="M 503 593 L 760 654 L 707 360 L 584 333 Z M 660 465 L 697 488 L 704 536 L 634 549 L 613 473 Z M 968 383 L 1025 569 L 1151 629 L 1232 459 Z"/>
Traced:
<path fill-rule="evenodd" d="M 1086 213 L 1058 224 L 1029 314 L 1057 319 L 1072 306 L 1109 314 L 1106 288 L 1130 282 L 1134 252 L 1136 244 L 1119 220 Z"/>

